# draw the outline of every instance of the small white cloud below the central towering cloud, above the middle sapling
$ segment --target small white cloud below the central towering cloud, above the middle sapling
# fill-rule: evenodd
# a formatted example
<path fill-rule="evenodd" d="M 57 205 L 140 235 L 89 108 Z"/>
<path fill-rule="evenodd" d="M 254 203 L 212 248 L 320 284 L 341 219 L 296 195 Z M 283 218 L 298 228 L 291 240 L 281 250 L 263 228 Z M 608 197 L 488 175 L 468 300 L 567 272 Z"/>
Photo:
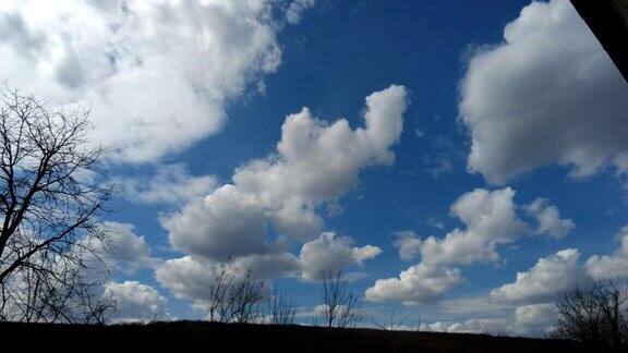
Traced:
<path fill-rule="evenodd" d="M 306 280 L 321 280 L 326 271 L 338 271 L 350 266 L 362 264 L 382 253 L 377 246 L 352 246 L 353 240 L 349 236 L 336 236 L 335 233 L 325 232 L 317 240 L 307 242 L 301 247 L 303 266 L 302 277 Z"/>

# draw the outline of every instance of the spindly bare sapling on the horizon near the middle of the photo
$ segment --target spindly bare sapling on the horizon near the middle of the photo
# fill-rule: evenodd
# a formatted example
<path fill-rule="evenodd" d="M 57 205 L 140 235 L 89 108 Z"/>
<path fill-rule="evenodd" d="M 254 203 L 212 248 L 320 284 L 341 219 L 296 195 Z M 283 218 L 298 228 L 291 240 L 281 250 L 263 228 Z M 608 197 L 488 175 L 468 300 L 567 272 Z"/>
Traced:
<path fill-rule="evenodd" d="M 323 290 L 321 293 L 323 319 L 327 328 L 355 327 L 364 318 L 360 297 L 349 288 L 341 271 L 327 270 L 323 272 Z"/>

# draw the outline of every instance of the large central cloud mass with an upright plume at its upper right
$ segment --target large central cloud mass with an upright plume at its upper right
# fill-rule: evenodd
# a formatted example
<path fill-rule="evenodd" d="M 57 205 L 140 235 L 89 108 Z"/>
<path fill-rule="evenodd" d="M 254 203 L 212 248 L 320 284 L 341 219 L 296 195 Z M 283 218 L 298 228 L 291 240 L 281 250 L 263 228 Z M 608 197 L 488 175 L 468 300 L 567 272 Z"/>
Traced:
<path fill-rule="evenodd" d="M 262 278 L 315 281 L 323 270 L 361 266 L 382 251 L 354 246 L 349 236 L 322 232 L 322 214 L 350 192 L 360 172 L 390 166 L 400 137 L 407 93 L 391 85 L 366 97 L 364 127 L 288 115 L 274 154 L 237 168 L 232 183 L 161 218 L 170 244 L 186 256 L 165 261 L 157 280 L 180 299 L 198 301 L 209 278 L 203 268 L 231 258 Z M 291 252 L 302 244 L 299 257 Z M 200 284 L 201 283 L 201 284 Z"/>

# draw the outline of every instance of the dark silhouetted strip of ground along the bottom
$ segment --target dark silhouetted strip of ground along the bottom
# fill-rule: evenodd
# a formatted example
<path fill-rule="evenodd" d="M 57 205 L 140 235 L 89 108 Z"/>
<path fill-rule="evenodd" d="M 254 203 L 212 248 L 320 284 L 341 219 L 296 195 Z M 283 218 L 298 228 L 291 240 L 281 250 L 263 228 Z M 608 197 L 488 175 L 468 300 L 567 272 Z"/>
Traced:
<path fill-rule="evenodd" d="M 326 330 L 319 327 L 209 324 L 71 326 L 0 322 L 15 348 L 59 352 L 100 350 L 174 352 L 601 352 L 580 343 L 467 333 Z M 10 344 L 9 346 L 11 346 Z"/>

